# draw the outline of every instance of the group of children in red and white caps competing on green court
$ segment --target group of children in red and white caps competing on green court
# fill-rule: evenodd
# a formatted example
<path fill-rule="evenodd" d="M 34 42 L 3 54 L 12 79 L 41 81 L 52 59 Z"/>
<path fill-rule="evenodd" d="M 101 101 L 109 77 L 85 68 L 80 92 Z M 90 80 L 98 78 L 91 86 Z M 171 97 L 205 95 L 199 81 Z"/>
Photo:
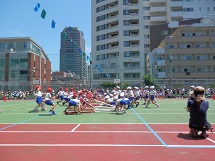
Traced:
<path fill-rule="evenodd" d="M 116 112 L 123 111 L 126 113 L 126 110 L 131 107 L 137 107 L 139 102 L 137 100 L 144 100 L 145 108 L 148 107 L 149 103 L 156 105 L 159 107 L 159 104 L 155 101 L 155 95 L 157 94 L 154 86 L 146 86 L 144 89 L 140 89 L 139 87 L 127 87 L 122 90 L 119 86 L 116 86 L 114 89 L 108 92 L 103 92 L 101 90 L 86 90 L 82 89 L 80 91 L 75 90 L 74 88 L 62 88 L 60 87 L 59 91 L 56 93 L 57 99 L 59 101 L 52 102 L 51 96 L 52 89 L 48 88 L 47 92 L 42 97 L 41 88 L 36 86 L 35 96 L 37 106 L 30 112 L 38 112 L 38 109 L 41 108 L 42 111 L 45 109 L 45 104 L 51 106 L 49 111 L 50 115 L 55 115 L 54 112 L 56 104 L 67 105 L 68 108 L 74 107 L 75 111 L 78 114 L 81 114 L 84 108 L 87 106 L 94 107 L 93 103 L 103 103 L 107 106 L 115 107 Z M 95 107 L 94 107 L 95 108 Z M 77 109 L 77 111 L 76 111 Z M 66 111 L 66 109 L 65 109 Z"/>

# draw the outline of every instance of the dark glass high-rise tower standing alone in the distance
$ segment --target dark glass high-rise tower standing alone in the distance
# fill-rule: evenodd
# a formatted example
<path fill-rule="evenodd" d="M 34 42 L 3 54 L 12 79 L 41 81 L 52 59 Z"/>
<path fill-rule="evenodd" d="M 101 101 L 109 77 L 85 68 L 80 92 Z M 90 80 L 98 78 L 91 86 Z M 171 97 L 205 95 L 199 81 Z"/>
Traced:
<path fill-rule="evenodd" d="M 60 71 L 86 79 L 85 39 L 77 27 L 66 27 L 61 32 Z"/>

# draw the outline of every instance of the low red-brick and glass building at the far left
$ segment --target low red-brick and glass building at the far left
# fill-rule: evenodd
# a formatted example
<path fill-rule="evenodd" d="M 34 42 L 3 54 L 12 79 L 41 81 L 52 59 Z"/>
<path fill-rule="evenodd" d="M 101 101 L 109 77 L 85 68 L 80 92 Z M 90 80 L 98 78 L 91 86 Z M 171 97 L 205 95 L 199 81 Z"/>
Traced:
<path fill-rule="evenodd" d="M 29 37 L 0 38 L 0 90 L 42 88 L 51 81 L 51 62 Z"/>

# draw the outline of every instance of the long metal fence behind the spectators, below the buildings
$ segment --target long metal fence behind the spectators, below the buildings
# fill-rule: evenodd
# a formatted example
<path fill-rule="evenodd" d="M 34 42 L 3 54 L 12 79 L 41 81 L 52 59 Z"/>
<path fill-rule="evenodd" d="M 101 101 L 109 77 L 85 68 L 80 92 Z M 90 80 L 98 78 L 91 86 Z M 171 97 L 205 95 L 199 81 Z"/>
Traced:
<path fill-rule="evenodd" d="M 109 80 L 110 81 L 110 80 Z M 156 79 L 156 83 L 159 86 L 165 86 L 167 88 L 190 88 L 191 85 L 198 86 L 201 85 L 205 88 L 214 88 L 215 87 L 215 79 L 172 79 L 171 81 L 169 79 Z M 60 87 L 63 88 L 74 88 L 76 90 L 83 89 L 83 88 L 99 88 L 101 87 L 100 84 L 103 82 L 108 82 L 108 80 L 103 81 L 94 81 L 92 83 L 92 86 L 90 83 L 84 82 L 82 80 L 72 80 L 72 81 L 50 81 L 50 82 L 41 82 L 40 85 L 42 87 L 42 90 L 46 90 L 47 88 L 51 87 L 53 90 L 58 91 Z M 112 81 L 111 81 L 112 82 Z M 170 83 L 171 82 L 171 83 Z M 127 82 L 120 82 L 121 85 L 123 84 L 129 84 L 129 81 Z M 134 82 L 132 81 L 132 84 L 130 86 L 134 85 Z M 9 82 L 0 82 L 0 90 L 2 91 L 29 91 L 34 90 L 35 86 L 38 84 L 34 84 L 32 81 L 9 81 Z M 142 86 L 145 85 L 142 82 L 136 82 L 135 86 Z"/>

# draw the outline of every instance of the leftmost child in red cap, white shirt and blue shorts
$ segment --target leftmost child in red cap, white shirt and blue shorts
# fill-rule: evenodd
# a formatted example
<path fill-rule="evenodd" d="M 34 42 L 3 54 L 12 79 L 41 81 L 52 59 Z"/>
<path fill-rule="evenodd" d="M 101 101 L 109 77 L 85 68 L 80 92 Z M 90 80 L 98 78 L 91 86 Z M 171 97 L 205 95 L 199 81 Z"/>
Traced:
<path fill-rule="evenodd" d="M 45 104 L 43 102 L 42 92 L 41 92 L 40 86 L 36 86 L 36 93 L 35 93 L 35 95 L 36 95 L 35 101 L 37 103 L 37 106 L 32 111 L 29 111 L 29 113 L 31 113 L 31 112 L 38 112 L 38 108 L 39 107 L 41 107 L 42 111 L 46 110 L 44 108 Z"/>

